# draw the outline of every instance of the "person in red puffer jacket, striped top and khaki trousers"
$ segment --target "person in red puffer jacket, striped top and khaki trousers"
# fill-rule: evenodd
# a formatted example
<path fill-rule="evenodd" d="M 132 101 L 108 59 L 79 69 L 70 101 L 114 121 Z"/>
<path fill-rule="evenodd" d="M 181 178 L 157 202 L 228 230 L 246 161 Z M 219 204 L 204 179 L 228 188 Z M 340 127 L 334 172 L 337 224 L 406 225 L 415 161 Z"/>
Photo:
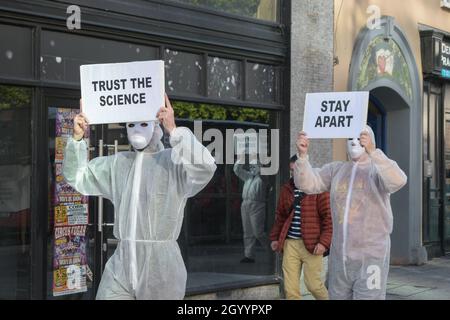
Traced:
<path fill-rule="evenodd" d="M 297 156 L 290 160 L 291 177 Z M 327 300 L 328 291 L 320 274 L 324 255 L 331 245 L 332 222 L 329 193 L 306 195 L 291 178 L 281 188 L 275 222 L 270 233 L 272 250 L 283 252 L 286 298 L 301 299 L 300 274 L 317 300 Z"/>

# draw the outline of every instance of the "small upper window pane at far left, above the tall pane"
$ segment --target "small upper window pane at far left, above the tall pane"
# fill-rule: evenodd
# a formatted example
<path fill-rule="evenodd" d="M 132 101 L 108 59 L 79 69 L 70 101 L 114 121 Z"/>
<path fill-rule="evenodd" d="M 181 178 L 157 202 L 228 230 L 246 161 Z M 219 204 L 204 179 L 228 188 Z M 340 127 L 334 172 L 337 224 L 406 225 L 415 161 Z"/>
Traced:
<path fill-rule="evenodd" d="M 16 78 L 32 78 L 31 29 L 1 25 L 0 74 Z"/>

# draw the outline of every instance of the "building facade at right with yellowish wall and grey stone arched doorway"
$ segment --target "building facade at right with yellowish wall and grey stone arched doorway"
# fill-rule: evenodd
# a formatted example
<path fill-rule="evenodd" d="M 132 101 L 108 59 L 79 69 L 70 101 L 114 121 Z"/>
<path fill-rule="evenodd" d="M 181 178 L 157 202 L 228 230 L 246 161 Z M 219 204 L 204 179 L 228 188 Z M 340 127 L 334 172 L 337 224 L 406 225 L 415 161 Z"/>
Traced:
<path fill-rule="evenodd" d="M 336 91 L 369 91 L 377 145 L 408 175 L 392 195 L 391 262 L 450 250 L 446 129 L 450 12 L 440 0 L 334 1 Z M 333 144 L 345 159 L 345 142 Z"/>

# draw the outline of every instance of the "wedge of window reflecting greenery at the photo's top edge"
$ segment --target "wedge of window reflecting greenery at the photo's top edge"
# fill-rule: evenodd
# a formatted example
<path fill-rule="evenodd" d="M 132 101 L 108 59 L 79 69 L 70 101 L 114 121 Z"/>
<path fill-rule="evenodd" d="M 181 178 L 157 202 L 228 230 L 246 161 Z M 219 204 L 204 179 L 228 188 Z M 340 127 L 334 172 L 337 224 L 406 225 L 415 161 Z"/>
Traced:
<path fill-rule="evenodd" d="M 172 0 L 189 5 L 200 6 L 226 12 L 277 22 L 278 0 Z"/>

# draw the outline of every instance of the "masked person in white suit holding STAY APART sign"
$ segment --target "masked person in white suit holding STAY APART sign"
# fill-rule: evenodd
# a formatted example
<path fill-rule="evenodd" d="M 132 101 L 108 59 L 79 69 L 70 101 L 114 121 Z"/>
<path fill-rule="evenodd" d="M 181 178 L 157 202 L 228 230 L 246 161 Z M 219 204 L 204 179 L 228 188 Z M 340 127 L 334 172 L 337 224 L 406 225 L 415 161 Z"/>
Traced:
<path fill-rule="evenodd" d="M 301 132 L 294 180 L 297 188 L 307 194 L 330 191 L 330 299 L 384 300 L 393 225 L 390 195 L 406 184 L 407 177 L 395 161 L 376 149 L 369 126 L 359 139 L 348 140 L 349 162 L 313 169 L 308 161 L 308 146 L 308 137 Z"/>

